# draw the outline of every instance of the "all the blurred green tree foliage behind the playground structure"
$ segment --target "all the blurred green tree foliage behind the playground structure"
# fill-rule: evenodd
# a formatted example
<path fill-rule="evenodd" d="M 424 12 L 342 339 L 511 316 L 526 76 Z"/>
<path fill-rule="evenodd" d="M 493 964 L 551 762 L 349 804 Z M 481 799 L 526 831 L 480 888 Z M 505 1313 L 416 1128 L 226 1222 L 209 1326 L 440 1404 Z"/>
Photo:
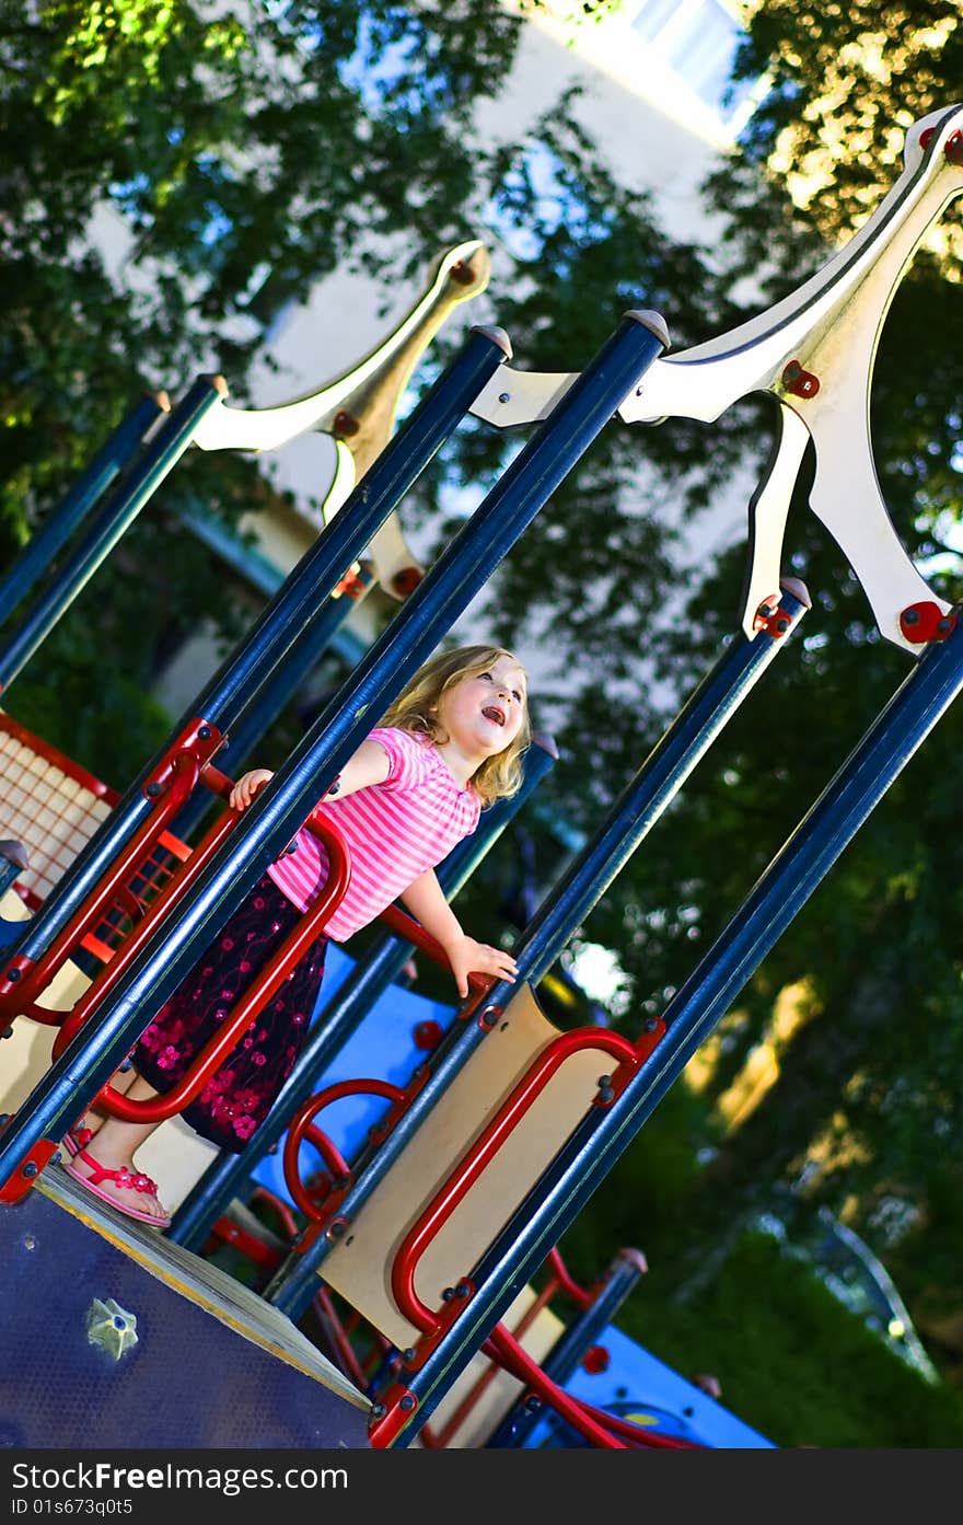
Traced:
<path fill-rule="evenodd" d="M 587 24 L 603 9 L 585 8 Z M 0 0 L 0 564 L 140 387 L 177 395 L 219 371 L 244 401 L 265 323 L 337 267 L 410 276 L 439 244 L 495 223 L 494 311 L 535 371 L 581 369 L 628 308 L 660 310 L 675 349 L 734 326 L 852 236 L 896 178 L 905 130 L 952 104 L 955 12 L 891 5 L 884 26 L 875 5 L 768 0 L 739 67 L 771 69 L 773 88 L 709 186 L 727 235 L 699 247 L 670 242 L 619 183 L 574 95 L 520 143 L 478 139 L 475 113 L 504 87 L 521 26 L 485 0 L 299 0 L 283 15 L 241 0 L 216 12 Z M 123 229 L 122 265 L 98 253 L 94 218 Z M 872 398 L 879 479 L 925 564 L 960 517 L 955 209 L 943 227 L 893 303 Z M 734 630 L 744 551 L 693 572 L 667 526 L 698 537 L 733 471 L 759 470 L 766 401 L 712 427 L 613 422 L 494 584 L 501 633 L 558 654 L 536 718 L 562 761 L 541 793 L 582 830 Z M 451 488 L 483 490 L 517 444 L 469 427 L 440 454 L 419 502 L 442 522 L 439 543 L 457 523 Z M 122 787 L 165 735 L 142 695 L 172 639 L 210 616 L 230 644 L 250 618 L 178 508 L 200 499 L 236 525 L 268 491 L 250 462 L 186 458 L 11 691 L 15 717 Z M 626 1026 L 661 1010 L 910 671 L 808 512 L 806 483 L 785 570 L 814 598 L 798 636 L 587 921 L 622 956 Z M 933 584 L 958 596 L 955 555 Z M 67 708 L 50 705 L 55 691 Z M 94 694 L 111 723 L 78 734 Z M 687 1196 L 702 1246 L 719 1214 L 744 1222 L 773 1183 L 846 1206 L 934 1330 L 958 1315 L 960 724 L 946 717 L 741 997 L 709 1101 L 782 987 L 806 982 L 808 1020 Z M 645 1220 L 658 1173 L 637 1186 Z M 651 1222 L 646 1250 L 669 1257 L 669 1215 Z"/>

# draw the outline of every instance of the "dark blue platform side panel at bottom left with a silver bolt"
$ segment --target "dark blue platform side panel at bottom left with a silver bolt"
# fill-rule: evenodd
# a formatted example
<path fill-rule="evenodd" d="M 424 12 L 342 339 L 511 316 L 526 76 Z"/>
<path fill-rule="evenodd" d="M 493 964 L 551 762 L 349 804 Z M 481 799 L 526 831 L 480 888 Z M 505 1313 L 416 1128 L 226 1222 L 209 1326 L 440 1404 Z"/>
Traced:
<path fill-rule="evenodd" d="M 0 1446 L 367 1449 L 369 1405 L 305 1336 L 123 1222 L 107 1237 L 46 1191 L 0 1208 Z M 94 1298 L 116 1350 L 91 1344 Z"/>

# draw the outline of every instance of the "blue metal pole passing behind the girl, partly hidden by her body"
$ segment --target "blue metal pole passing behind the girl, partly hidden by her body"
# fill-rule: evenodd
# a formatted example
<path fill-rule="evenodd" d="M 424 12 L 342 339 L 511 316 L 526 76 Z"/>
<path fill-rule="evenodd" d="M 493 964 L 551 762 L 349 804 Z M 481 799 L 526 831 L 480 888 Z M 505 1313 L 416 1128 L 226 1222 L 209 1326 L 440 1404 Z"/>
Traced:
<path fill-rule="evenodd" d="M 524 756 L 524 778 L 518 793 L 510 799 L 497 801 L 491 810 L 486 810 L 477 830 L 459 842 L 439 865 L 439 883 L 448 900 L 453 900 L 474 874 L 556 756 L 553 741 L 541 737 L 533 738 L 533 744 Z M 325 1075 L 331 1060 L 389 988 L 410 950 L 411 944 L 405 938 L 389 935 L 381 938 L 369 955 L 355 964 L 344 984 L 317 1013 L 294 1071 L 248 1147 L 242 1154 L 221 1153 L 212 1161 L 174 1214 L 168 1238 L 187 1249 L 201 1247 L 210 1225 L 245 1185 L 258 1161 L 264 1159 L 277 1144 L 297 1107 L 317 1089 L 317 1083 Z"/>

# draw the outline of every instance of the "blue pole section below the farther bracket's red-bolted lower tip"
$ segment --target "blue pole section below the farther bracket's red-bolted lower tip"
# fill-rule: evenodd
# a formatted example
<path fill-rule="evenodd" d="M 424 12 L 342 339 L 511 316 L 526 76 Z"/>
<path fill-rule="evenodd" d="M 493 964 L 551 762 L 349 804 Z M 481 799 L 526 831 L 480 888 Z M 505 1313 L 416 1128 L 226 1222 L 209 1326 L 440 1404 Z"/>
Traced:
<path fill-rule="evenodd" d="M 245 766 L 251 749 L 258 744 L 268 726 L 277 720 L 283 706 L 288 703 L 291 695 L 297 692 L 300 683 L 311 673 L 314 663 L 318 660 L 322 653 L 328 650 L 341 625 L 346 622 L 352 610 L 358 607 L 376 578 L 367 567 L 361 567 L 357 581 L 358 592 L 350 595 L 332 593 L 331 598 L 325 601 L 318 618 L 300 633 L 285 662 L 279 665 L 274 673 L 271 673 L 267 683 L 262 685 L 261 691 L 232 726 L 222 750 L 226 753 L 227 769 L 233 778 L 241 776 L 241 770 Z M 203 788 L 195 790 L 171 825 L 174 836 L 181 837 L 186 842 L 209 808 L 210 796 L 207 796 Z"/>

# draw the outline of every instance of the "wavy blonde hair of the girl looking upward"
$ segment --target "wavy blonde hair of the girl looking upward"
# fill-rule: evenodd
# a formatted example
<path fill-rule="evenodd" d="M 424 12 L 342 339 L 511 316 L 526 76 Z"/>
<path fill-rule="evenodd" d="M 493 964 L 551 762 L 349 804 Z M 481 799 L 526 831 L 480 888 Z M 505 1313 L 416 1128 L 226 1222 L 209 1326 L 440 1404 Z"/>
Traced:
<path fill-rule="evenodd" d="M 436 746 L 443 746 L 448 741 L 448 732 L 437 714 L 442 694 L 466 677 L 480 677 L 481 673 L 488 673 L 498 657 L 507 657 L 509 662 L 521 668 L 518 657 L 506 651 L 504 647 L 456 647 L 451 651 L 437 651 L 402 688 L 379 724 L 411 730 L 414 735 L 428 737 Z M 524 668 L 521 671 L 524 673 Z M 530 743 L 532 726 L 526 698 L 518 735 L 509 741 L 504 752 L 486 758 L 471 778 L 471 787 L 483 805 L 491 805 L 497 799 L 510 799 L 512 795 L 518 793 L 521 758 Z"/>

